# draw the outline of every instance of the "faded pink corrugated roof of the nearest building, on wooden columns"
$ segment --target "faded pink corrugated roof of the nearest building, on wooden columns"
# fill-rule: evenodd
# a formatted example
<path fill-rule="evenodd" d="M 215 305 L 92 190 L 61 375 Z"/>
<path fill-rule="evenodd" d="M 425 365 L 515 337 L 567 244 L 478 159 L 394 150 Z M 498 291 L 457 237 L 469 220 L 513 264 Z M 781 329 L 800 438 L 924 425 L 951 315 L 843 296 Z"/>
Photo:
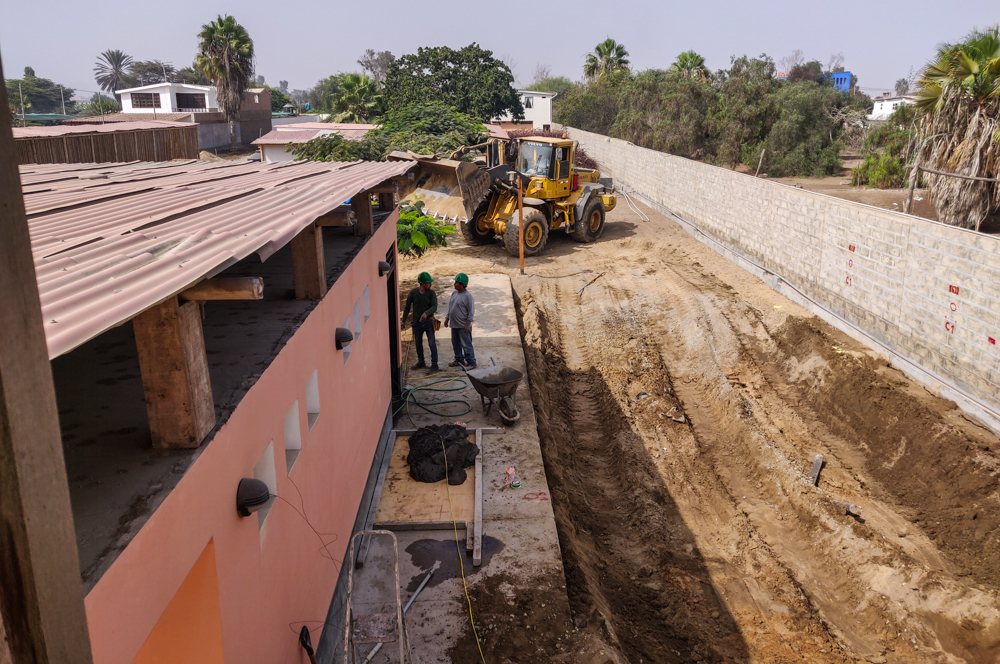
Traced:
<path fill-rule="evenodd" d="M 317 217 L 412 167 L 197 161 L 21 167 L 49 357 L 252 253 L 266 260 Z"/>

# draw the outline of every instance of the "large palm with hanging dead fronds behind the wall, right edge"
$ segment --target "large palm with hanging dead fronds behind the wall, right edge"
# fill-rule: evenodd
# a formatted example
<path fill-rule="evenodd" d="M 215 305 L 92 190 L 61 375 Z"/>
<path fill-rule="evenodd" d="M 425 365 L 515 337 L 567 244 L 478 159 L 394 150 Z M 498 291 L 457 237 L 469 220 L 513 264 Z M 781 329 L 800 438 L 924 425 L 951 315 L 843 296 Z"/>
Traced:
<path fill-rule="evenodd" d="M 920 77 L 919 166 L 1000 177 L 1000 28 L 974 30 L 944 44 Z M 941 221 L 979 229 L 1000 209 L 1000 185 L 927 175 Z"/>

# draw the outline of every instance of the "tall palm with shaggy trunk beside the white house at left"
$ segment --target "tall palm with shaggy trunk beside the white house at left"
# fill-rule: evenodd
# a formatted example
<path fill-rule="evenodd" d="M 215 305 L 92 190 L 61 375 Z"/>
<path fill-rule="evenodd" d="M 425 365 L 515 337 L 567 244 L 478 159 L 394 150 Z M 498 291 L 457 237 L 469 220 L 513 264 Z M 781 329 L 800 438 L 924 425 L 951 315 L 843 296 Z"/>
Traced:
<path fill-rule="evenodd" d="M 236 149 L 236 121 L 253 79 L 253 40 L 232 16 L 219 16 L 198 33 L 198 69 L 215 86 L 219 108 L 229 120 L 229 147 Z"/>

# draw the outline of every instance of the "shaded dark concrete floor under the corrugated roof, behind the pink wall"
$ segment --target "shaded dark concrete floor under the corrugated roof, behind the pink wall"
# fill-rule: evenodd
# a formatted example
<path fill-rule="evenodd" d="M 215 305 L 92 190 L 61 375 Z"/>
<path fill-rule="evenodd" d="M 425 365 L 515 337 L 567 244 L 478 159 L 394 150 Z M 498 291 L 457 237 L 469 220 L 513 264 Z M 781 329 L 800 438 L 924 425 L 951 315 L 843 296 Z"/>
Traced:
<path fill-rule="evenodd" d="M 325 228 L 327 282 L 364 244 Z M 85 591 L 184 476 L 316 305 L 295 299 L 291 249 L 256 254 L 220 276 L 264 278 L 264 300 L 209 302 L 203 329 L 216 427 L 194 450 L 153 450 L 131 322 L 52 361 Z"/>

